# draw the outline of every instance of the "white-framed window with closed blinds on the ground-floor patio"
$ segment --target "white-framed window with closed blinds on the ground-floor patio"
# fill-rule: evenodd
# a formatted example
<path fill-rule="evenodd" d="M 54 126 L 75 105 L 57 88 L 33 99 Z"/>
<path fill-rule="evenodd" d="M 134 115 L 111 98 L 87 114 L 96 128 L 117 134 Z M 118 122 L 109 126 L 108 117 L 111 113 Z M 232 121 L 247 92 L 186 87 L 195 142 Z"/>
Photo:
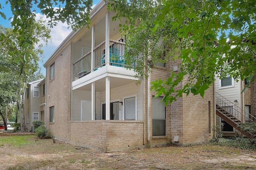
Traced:
<path fill-rule="evenodd" d="M 137 97 L 124 98 L 124 120 L 136 120 Z"/>

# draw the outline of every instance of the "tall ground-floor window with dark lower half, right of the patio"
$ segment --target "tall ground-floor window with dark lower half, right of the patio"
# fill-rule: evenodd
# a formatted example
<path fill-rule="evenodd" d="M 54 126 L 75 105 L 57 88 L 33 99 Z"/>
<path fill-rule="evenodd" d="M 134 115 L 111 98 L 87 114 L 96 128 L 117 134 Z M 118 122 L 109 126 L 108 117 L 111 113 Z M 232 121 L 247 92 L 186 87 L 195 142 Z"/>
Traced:
<path fill-rule="evenodd" d="M 166 135 L 165 106 L 162 97 L 152 98 L 152 135 Z"/>

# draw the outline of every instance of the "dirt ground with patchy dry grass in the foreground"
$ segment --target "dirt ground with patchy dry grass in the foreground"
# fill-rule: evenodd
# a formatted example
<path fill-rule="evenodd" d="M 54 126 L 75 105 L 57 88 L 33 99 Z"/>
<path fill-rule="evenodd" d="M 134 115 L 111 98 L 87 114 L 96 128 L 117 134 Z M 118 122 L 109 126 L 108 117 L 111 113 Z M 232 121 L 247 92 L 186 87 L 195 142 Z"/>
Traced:
<path fill-rule="evenodd" d="M 29 140 L 22 146 L 0 145 L 0 170 L 256 169 L 256 151 L 232 147 L 169 146 L 105 153 L 36 136 Z"/>

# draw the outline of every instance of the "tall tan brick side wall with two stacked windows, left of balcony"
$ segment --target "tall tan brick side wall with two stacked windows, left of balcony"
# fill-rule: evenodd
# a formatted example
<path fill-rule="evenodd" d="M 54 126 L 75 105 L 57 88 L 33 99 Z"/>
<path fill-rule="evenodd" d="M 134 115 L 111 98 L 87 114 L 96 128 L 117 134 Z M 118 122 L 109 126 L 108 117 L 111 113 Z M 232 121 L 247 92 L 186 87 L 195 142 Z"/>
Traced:
<path fill-rule="evenodd" d="M 46 67 L 46 127 L 57 139 L 70 139 L 70 70 L 71 45 L 56 55 Z M 50 66 L 55 63 L 55 76 L 50 80 Z M 54 123 L 49 107 L 54 106 Z"/>

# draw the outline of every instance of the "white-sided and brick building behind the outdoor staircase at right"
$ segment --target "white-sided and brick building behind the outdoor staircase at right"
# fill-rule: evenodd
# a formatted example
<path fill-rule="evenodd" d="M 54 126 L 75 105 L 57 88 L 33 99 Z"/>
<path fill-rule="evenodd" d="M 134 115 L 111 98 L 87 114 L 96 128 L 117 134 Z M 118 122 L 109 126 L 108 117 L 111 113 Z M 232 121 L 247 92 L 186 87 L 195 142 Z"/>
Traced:
<path fill-rule="evenodd" d="M 254 79 L 256 76 L 254 77 Z M 246 85 L 246 90 L 243 89 Z M 234 81 L 234 78 L 228 76 L 225 79 L 216 77 L 216 105 L 222 107 L 225 114 L 218 106 L 216 108 L 216 124 L 224 123 L 224 136 L 237 136 L 241 133 L 236 126 L 240 123 L 256 122 L 256 83 L 239 80 Z M 223 117 L 224 116 L 224 117 Z M 226 120 L 226 121 L 225 121 Z M 245 134 L 246 135 L 246 134 Z"/>

